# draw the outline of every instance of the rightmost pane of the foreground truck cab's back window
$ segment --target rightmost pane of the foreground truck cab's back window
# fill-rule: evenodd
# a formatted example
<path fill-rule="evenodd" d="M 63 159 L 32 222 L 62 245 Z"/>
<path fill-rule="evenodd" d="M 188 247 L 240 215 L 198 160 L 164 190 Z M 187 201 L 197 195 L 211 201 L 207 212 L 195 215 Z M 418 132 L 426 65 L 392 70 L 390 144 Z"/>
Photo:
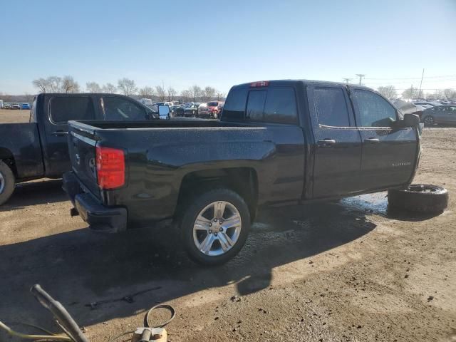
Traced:
<path fill-rule="evenodd" d="M 269 88 L 264 105 L 264 121 L 268 123 L 298 123 L 296 96 L 293 88 Z"/>

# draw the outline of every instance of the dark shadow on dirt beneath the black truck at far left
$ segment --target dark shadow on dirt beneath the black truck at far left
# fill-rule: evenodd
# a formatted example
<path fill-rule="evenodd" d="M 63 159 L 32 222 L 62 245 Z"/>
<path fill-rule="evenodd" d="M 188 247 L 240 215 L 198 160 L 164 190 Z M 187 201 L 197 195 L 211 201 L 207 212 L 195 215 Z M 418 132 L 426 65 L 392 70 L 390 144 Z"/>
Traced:
<path fill-rule="evenodd" d="M 56 203 L 68 200 L 62 190 L 62 180 L 40 180 L 16 185 L 11 198 L 1 205 L 0 212 L 22 209 L 34 204 Z"/>

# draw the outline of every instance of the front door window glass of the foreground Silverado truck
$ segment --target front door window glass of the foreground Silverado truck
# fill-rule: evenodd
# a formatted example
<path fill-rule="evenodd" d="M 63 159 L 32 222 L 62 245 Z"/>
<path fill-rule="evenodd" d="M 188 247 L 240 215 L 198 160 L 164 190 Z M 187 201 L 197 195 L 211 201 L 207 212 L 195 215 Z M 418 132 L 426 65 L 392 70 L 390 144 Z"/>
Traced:
<path fill-rule="evenodd" d="M 358 126 L 361 127 L 390 127 L 397 119 L 393 105 L 387 100 L 368 90 L 353 91 L 358 107 Z"/>

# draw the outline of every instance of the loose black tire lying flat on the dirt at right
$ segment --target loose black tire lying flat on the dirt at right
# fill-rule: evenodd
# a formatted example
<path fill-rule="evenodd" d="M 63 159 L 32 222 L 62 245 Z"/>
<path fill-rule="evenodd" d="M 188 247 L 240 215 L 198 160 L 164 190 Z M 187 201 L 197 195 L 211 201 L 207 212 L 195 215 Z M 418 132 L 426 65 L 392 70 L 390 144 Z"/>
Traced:
<path fill-rule="evenodd" d="M 448 205 L 448 191 L 436 185 L 413 184 L 406 190 L 388 190 L 388 204 L 409 212 L 443 212 Z"/>

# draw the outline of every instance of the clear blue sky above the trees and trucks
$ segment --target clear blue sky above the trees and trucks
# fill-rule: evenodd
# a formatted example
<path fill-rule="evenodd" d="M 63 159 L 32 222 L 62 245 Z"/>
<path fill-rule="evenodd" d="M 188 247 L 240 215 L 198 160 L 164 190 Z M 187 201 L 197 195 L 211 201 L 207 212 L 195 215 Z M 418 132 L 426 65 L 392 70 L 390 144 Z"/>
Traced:
<path fill-rule="evenodd" d="M 456 0 L 5 0 L 0 92 L 34 78 L 230 86 L 264 79 L 456 88 Z M 454 77 L 452 77 L 454 76 Z M 368 78 L 375 78 L 369 80 Z M 381 78 L 381 79 L 379 79 Z M 394 79 L 393 79 L 394 78 Z"/>

